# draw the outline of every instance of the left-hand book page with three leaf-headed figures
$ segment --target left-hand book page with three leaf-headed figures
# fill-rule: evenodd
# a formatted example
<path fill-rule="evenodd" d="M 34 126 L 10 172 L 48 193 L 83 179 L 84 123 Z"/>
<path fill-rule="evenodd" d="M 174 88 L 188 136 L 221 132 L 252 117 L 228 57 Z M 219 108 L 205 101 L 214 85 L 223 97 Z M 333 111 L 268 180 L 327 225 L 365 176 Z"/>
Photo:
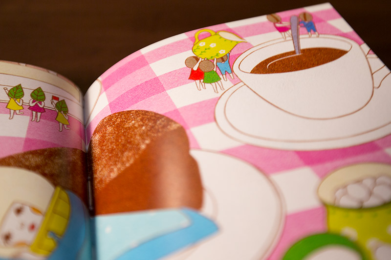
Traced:
<path fill-rule="evenodd" d="M 9 61 L 0 85 L 0 258 L 89 258 L 82 93 Z"/>

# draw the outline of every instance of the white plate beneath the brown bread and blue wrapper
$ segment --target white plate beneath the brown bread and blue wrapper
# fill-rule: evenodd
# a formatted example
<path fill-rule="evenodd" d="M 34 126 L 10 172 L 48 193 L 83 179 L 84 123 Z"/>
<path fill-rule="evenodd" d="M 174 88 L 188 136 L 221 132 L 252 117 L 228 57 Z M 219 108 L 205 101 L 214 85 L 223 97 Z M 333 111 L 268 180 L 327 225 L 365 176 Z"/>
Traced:
<path fill-rule="evenodd" d="M 214 220 L 216 235 L 170 260 L 264 259 L 280 237 L 285 210 L 281 196 L 257 168 L 235 157 L 191 150 L 204 193 L 201 214 Z"/>

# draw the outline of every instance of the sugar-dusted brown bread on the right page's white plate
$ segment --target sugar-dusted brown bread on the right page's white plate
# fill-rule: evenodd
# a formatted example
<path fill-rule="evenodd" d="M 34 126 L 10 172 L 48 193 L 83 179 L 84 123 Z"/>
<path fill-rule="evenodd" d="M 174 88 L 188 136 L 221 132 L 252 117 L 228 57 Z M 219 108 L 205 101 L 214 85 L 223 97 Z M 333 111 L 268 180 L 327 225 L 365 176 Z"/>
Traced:
<path fill-rule="evenodd" d="M 88 148 L 95 214 L 170 207 L 199 209 L 202 184 L 183 127 L 144 110 L 112 114 Z"/>

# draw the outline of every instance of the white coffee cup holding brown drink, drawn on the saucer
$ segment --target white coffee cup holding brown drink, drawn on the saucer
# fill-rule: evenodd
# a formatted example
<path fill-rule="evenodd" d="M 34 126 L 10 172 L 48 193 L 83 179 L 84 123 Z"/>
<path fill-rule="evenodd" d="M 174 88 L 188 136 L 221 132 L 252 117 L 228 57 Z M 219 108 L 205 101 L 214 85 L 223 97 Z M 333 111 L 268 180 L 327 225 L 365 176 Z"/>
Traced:
<path fill-rule="evenodd" d="M 355 41 L 334 35 L 302 36 L 300 44 L 301 49 L 326 47 L 347 53 L 304 70 L 250 73 L 262 60 L 294 51 L 291 39 L 272 40 L 241 54 L 233 64 L 234 72 L 264 100 L 304 118 L 338 118 L 360 110 L 369 102 L 373 94 L 372 74 L 366 54 Z"/>

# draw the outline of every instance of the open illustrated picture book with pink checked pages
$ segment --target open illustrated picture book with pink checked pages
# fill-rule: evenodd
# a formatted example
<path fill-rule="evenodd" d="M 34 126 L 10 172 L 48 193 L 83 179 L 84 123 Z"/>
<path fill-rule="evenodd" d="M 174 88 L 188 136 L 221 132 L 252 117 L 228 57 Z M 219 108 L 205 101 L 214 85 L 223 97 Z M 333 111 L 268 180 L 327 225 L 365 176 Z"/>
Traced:
<path fill-rule="evenodd" d="M 329 3 L 0 84 L 0 258 L 389 259 L 390 70 Z"/>

